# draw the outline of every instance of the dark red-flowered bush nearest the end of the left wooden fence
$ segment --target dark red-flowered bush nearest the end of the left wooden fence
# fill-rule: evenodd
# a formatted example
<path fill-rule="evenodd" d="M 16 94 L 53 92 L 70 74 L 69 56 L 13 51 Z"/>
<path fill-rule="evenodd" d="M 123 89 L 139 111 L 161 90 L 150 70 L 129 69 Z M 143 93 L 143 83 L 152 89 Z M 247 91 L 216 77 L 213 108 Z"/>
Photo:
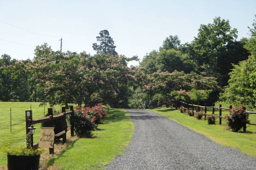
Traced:
<path fill-rule="evenodd" d="M 76 107 L 74 112 L 74 131 L 78 137 L 92 137 L 92 131 L 97 125 L 94 123 L 94 118 L 87 113 L 84 113 L 82 107 Z"/>

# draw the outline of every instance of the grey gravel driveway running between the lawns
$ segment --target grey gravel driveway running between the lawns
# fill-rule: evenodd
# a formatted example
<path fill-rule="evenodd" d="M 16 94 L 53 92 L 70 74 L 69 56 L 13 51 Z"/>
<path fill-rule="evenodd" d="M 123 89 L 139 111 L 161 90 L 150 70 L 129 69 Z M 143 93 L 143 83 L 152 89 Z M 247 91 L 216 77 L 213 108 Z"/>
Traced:
<path fill-rule="evenodd" d="M 256 158 L 217 145 L 162 115 L 127 111 L 134 123 L 134 135 L 124 155 L 106 166 L 108 170 L 256 169 Z"/>

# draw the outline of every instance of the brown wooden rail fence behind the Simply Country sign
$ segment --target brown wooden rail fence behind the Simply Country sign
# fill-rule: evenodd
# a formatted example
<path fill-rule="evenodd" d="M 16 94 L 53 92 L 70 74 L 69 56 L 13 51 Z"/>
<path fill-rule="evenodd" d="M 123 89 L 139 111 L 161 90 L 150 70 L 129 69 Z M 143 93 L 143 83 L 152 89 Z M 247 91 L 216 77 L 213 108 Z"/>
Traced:
<path fill-rule="evenodd" d="M 61 119 L 62 120 L 62 131 L 54 135 L 54 139 L 57 138 L 62 138 L 62 143 L 66 143 L 67 137 L 66 133 L 68 130 L 70 130 L 71 136 L 74 136 L 74 122 L 72 121 L 72 115 L 74 114 L 74 108 L 73 106 L 69 106 L 70 111 L 66 111 L 66 107 L 61 107 L 61 112 L 58 115 L 53 115 L 53 109 L 48 108 L 48 116 L 46 117 L 41 117 L 41 118 L 36 118 L 33 119 L 32 117 L 32 110 L 26 110 L 26 135 L 29 133 L 28 127 L 31 125 L 34 125 L 36 123 L 43 123 L 50 121 L 50 127 L 54 127 L 54 120 L 56 119 Z M 67 126 L 66 123 L 66 116 L 70 116 L 70 126 Z M 34 145 L 34 147 L 37 147 L 38 143 Z M 49 149 L 50 154 L 54 153 L 54 148 Z"/>

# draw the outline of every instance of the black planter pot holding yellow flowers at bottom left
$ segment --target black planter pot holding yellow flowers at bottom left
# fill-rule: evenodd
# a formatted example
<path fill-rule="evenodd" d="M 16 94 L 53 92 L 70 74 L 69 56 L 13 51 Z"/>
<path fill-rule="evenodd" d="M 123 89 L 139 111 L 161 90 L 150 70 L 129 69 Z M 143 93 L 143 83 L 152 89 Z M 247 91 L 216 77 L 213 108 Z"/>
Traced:
<path fill-rule="evenodd" d="M 16 156 L 7 155 L 8 170 L 38 170 L 40 155 Z"/>

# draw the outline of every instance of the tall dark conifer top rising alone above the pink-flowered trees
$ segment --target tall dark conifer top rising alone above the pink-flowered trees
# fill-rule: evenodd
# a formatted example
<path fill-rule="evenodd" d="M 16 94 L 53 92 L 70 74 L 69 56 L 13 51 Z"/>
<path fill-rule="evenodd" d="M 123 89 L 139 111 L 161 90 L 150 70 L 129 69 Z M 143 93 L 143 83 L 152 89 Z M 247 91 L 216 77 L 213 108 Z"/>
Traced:
<path fill-rule="evenodd" d="M 97 54 L 112 54 L 117 55 L 116 46 L 114 45 L 113 39 L 109 36 L 108 30 L 104 29 L 100 31 L 100 36 L 97 36 L 97 41 L 100 42 L 100 45 L 97 43 L 92 44 L 92 48 L 97 52 Z"/>

